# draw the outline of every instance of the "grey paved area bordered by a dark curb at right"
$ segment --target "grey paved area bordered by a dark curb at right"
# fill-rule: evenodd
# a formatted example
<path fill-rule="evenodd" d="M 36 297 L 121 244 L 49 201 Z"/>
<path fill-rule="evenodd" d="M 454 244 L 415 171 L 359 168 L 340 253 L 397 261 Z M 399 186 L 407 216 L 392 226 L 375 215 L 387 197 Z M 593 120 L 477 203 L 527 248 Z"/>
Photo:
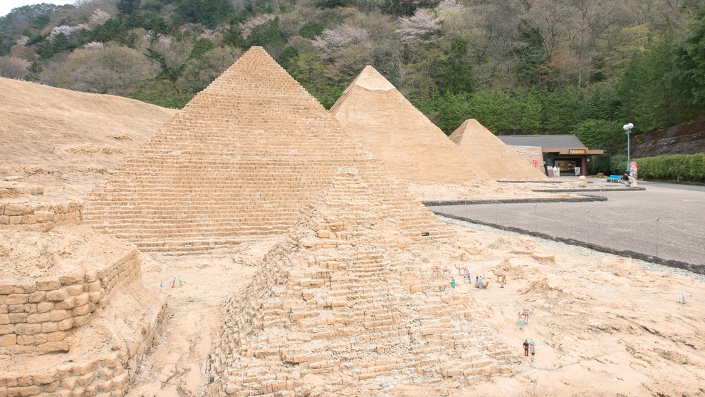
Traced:
<path fill-rule="evenodd" d="M 607 184 L 595 180 L 598 187 Z M 662 259 L 705 264 L 705 187 L 639 182 L 642 191 L 580 193 L 602 202 L 429 206 L 468 220 L 577 239 Z"/>

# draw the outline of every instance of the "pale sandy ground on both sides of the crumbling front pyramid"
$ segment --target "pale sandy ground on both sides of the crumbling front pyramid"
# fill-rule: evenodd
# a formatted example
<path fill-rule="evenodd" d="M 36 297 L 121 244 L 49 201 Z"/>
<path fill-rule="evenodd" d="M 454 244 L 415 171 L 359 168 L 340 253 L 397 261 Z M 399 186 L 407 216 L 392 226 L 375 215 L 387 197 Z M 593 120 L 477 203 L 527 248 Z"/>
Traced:
<path fill-rule="evenodd" d="M 443 381 L 399 385 L 385 379 L 346 391 L 358 396 L 701 396 L 705 393 L 705 297 L 702 284 L 643 270 L 632 259 L 597 257 L 541 247 L 528 238 L 454 226 L 477 254 L 458 260 L 447 249 L 429 252 L 458 284 L 450 293 L 486 304 L 479 315 L 524 359 L 518 373 L 475 385 Z M 199 396 L 204 361 L 216 337 L 221 305 L 251 280 L 266 243 L 194 257 L 145 263 L 145 283 L 163 282 L 171 315 L 159 346 L 143 363 L 128 396 Z M 480 291 L 461 269 L 492 279 Z M 499 288 L 491 269 L 508 269 Z M 181 277 L 183 284 L 179 284 Z M 174 279 L 176 282 L 174 283 Z M 172 283 L 174 287 L 172 287 Z M 686 304 L 679 304 L 685 294 Z M 533 310 L 518 327 L 518 311 Z M 489 307 L 491 314 L 486 314 Z M 536 361 L 523 357 L 536 341 Z M 321 396 L 328 395 L 325 388 Z"/>

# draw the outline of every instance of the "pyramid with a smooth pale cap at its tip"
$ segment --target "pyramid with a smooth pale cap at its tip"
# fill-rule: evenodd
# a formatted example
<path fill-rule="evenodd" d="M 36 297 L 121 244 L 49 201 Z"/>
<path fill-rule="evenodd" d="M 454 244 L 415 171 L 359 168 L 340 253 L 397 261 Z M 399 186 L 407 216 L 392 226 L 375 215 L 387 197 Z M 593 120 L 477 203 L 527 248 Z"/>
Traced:
<path fill-rule="evenodd" d="M 365 66 L 330 108 L 358 142 L 405 180 L 491 180 L 372 66 Z"/>

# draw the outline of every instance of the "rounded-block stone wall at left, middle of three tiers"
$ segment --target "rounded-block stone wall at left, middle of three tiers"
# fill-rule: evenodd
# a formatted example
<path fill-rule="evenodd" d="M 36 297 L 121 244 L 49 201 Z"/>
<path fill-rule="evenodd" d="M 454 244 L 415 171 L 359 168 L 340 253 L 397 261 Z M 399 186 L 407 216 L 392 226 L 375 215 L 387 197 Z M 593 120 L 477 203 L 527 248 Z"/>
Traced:
<path fill-rule="evenodd" d="M 88 324 L 91 314 L 108 304 L 115 287 L 142 277 L 140 264 L 139 252 L 132 249 L 101 270 L 0 285 L 0 346 L 65 350 L 69 331 Z"/>

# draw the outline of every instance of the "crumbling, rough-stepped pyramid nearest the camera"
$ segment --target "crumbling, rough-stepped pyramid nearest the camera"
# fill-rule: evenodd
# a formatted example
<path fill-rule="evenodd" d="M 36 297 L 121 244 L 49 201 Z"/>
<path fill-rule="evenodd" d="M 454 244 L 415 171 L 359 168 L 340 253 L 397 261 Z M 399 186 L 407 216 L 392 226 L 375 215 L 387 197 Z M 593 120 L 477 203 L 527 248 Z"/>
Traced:
<path fill-rule="evenodd" d="M 226 304 L 209 396 L 513 373 L 511 349 L 474 318 L 479 304 L 414 254 L 390 210 L 356 170 L 339 170 Z"/>

